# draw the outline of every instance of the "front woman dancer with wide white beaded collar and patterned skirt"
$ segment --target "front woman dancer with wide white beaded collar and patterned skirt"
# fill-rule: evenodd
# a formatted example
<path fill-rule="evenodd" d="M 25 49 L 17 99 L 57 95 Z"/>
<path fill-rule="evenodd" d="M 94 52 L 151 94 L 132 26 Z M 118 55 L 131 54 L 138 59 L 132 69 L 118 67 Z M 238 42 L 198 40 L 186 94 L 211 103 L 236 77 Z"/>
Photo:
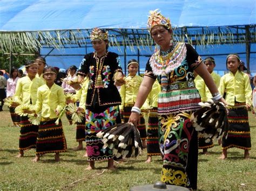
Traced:
<path fill-rule="evenodd" d="M 172 40 L 168 18 L 157 10 L 151 11 L 147 24 L 160 49 L 147 62 L 130 122 L 138 124 L 140 107 L 158 79 L 161 86 L 158 95 L 160 151 L 164 159 L 161 181 L 197 189 L 198 133 L 190 117 L 200 108 L 200 96 L 194 85 L 193 70 L 205 80 L 215 100 L 223 98 L 194 48 Z"/>

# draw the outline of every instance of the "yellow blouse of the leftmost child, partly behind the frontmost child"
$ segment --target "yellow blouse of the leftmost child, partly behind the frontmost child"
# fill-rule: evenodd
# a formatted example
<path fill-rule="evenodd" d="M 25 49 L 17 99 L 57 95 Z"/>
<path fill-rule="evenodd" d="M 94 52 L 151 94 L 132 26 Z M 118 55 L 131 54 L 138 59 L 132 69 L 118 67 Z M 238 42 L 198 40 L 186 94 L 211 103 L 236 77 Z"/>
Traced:
<path fill-rule="evenodd" d="M 37 100 L 37 89 L 42 86 L 44 82 L 35 77 L 32 81 L 28 76 L 18 79 L 16 90 L 14 94 L 15 102 L 22 102 L 24 104 L 30 104 L 30 99 L 33 105 Z"/>

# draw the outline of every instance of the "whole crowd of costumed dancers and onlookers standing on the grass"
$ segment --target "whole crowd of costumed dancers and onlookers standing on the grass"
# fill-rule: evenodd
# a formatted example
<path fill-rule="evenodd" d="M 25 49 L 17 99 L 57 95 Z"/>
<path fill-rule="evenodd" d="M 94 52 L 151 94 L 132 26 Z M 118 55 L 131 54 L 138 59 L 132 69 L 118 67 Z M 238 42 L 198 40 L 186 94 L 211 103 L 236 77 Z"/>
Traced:
<path fill-rule="evenodd" d="M 239 55 L 227 56 L 228 73 L 220 77 L 213 72 L 214 58 L 203 60 L 190 44 L 173 40 L 171 22 L 160 12 L 150 12 L 147 27 L 157 49 L 147 61 L 143 77 L 137 75 L 139 63 L 135 59 L 127 63 L 129 74 L 124 76 L 118 54 L 107 50 L 107 32 L 98 28 L 90 36 L 95 51 L 84 56 L 79 69 L 70 66 L 66 75 L 58 73 L 57 67 L 47 66 L 41 56 L 25 63 L 26 76 L 12 68 L 6 81 L 0 73 L 0 110 L 4 98 L 13 97 L 11 119 L 21 128 L 17 157 L 36 148 L 33 161 L 45 153 L 56 153 L 55 160 L 59 161 L 59 153 L 65 152 L 67 145 L 58 117 L 66 104 L 75 102 L 76 111 L 84 117 L 76 123 L 78 146 L 74 150 L 83 150 L 86 143 L 87 169 L 94 169 L 97 160 L 107 160 L 107 167 L 115 169 L 114 160 L 119 159 L 96 135 L 114 124 L 130 122 L 137 127 L 147 150 L 145 162 L 151 162 L 154 155 L 163 159 L 161 181 L 197 189 L 198 148 L 208 154 L 214 143 L 198 137 L 191 115 L 200 108 L 199 102 L 212 99 L 228 109 L 229 130 L 219 141 L 223 147 L 220 159 L 227 158 L 231 147 L 243 149 L 244 158 L 249 158 L 248 110 L 254 112 L 256 108 L 256 89 L 252 91 L 250 77 L 242 72 Z M 253 82 L 255 86 L 256 77 Z M 65 95 L 75 99 L 67 100 Z M 24 112 L 41 115 L 39 125 L 16 114 L 15 108 L 21 103 L 33 105 Z M 147 120 L 145 116 L 149 116 Z M 74 123 L 69 112 L 66 117 Z"/>

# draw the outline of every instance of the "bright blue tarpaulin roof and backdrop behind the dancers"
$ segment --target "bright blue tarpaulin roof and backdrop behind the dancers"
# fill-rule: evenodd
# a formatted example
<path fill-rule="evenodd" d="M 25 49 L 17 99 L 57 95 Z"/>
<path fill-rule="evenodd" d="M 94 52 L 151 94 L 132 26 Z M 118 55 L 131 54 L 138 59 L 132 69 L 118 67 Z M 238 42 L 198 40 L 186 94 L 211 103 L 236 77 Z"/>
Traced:
<path fill-rule="evenodd" d="M 171 19 L 172 27 L 215 27 L 232 25 L 255 25 L 256 1 L 252 0 L 177 0 L 177 1 L 54 1 L 54 0 L 2 0 L 0 1 L 0 33 L 17 31 L 54 31 L 77 30 L 101 27 L 104 29 L 146 29 L 147 15 L 150 10 L 160 9 L 161 13 Z M 255 30 L 255 29 L 254 29 Z M 146 30 L 145 30 L 146 31 Z M 181 31 L 182 32 L 182 31 Z M 201 32 L 201 29 L 198 33 Z M 221 32 L 221 31 L 220 31 Z M 255 34 L 254 34 L 255 38 Z M 201 55 L 216 56 L 218 70 L 225 70 L 225 57 L 228 53 L 241 53 L 245 60 L 245 44 L 212 45 L 207 48 L 197 46 Z M 121 48 L 122 49 L 122 48 Z M 47 55 L 50 49 L 41 48 L 41 54 Z M 86 49 L 92 51 L 92 49 Z M 50 65 L 67 68 L 79 65 L 85 48 L 55 49 L 46 56 Z M 110 51 L 124 54 L 117 48 Z M 69 56 L 57 56 L 57 54 Z M 147 55 L 152 50 L 145 51 L 141 58 L 141 68 L 144 68 Z M 72 56 L 71 54 L 75 54 Z M 143 51 L 142 51 L 143 54 Z M 251 44 L 251 70 L 256 70 L 256 47 Z M 134 58 L 134 56 L 133 56 Z M 136 58 L 136 56 L 135 56 Z M 130 58 L 126 59 L 126 62 Z M 122 58 L 124 61 L 124 58 Z"/>

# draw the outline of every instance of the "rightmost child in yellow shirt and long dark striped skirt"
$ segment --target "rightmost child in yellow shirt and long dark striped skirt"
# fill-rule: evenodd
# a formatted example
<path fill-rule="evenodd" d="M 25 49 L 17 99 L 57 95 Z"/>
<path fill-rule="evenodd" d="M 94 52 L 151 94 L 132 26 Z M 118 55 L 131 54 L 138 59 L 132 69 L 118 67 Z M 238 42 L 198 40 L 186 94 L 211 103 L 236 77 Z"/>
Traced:
<path fill-rule="evenodd" d="M 227 158 L 227 149 L 238 147 L 245 150 L 244 158 L 249 158 L 251 150 L 250 125 L 248 123 L 248 109 L 252 105 L 252 88 L 249 76 L 241 72 L 241 61 L 238 54 L 230 54 L 226 60 L 229 73 L 220 79 L 219 92 L 224 95 L 229 107 L 229 130 L 227 138 L 223 137 L 223 153 L 220 159 Z"/>

